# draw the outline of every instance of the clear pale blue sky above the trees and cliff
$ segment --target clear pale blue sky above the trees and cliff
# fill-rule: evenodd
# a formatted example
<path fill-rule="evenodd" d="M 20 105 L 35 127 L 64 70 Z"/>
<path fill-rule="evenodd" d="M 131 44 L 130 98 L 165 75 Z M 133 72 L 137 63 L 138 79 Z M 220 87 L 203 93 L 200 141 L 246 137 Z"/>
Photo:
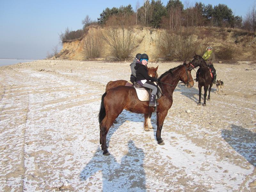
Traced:
<path fill-rule="evenodd" d="M 162 0 L 166 5 L 169 0 Z M 130 1 L 100 1 L 100 0 L 1 0 L 0 6 L 0 58 L 10 59 L 44 59 L 52 53 L 54 46 L 60 44 L 59 34 L 68 27 L 71 30 L 83 28 L 82 20 L 89 15 L 92 20 L 100 17 L 100 13 L 107 7 L 117 7 L 131 4 L 135 9 L 137 2 Z M 194 5 L 202 2 L 205 5 L 226 4 L 234 15 L 245 17 L 255 0 L 181 0 Z"/>

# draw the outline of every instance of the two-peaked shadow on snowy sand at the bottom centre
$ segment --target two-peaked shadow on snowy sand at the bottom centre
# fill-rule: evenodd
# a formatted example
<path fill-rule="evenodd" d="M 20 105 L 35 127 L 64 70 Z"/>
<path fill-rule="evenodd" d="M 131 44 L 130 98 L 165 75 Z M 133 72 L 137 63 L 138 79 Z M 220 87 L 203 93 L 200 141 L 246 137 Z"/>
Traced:
<path fill-rule="evenodd" d="M 132 140 L 128 141 L 128 152 L 118 163 L 113 155 L 103 156 L 98 148 L 92 159 L 80 173 L 80 180 L 87 181 L 87 186 L 93 182 L 100 182 L 102 177 L 102 191 L 145 191 L 146 174 L 144 172 L 145 154 L 143 149 L 137 148 Z M 90 188 L 87 187 L 87 190 Z M 97 188 L 97 190 L 100 190 Z"/>

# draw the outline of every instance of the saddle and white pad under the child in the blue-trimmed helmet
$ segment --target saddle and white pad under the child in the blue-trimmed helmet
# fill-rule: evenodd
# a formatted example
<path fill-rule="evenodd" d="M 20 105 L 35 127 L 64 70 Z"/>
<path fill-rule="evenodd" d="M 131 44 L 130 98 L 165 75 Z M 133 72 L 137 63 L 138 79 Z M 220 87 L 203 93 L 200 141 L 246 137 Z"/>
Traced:
<path fill-rule="evenodd" d="M 154 84 L 156 84 L 154 82 Z M 140 101 L 149 101 L 149 95 L 151 94 L 152 90 L 146 87 L 143 87 L 136 82 L 134 82 L 133 87 L 136 90 L 137 96 Z M 161 88 L 157 85 L 157 92 L 156 92 L 156 99 L 159 99 L 162 95 Z"/>

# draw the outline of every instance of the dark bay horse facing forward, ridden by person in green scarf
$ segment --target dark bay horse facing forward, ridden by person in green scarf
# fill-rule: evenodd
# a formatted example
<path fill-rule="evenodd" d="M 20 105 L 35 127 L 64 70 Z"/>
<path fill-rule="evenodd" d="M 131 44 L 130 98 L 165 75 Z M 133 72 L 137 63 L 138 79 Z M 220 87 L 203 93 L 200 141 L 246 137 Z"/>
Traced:
<path fill-rule="evenodd" d="M 209 94 L 208 94 L 208 99 L 210 99 L 210 93 L 212 90 L 212 84 L 213 84 L 213 78 L 210 74 L 210 69 L 207 66 L 205 60 L 199 56 L 195 55 L 194 59 L 191 61 L 191 65 L 195 67 L 200 67 L 200 73 L 198 75 L 198 89 L 199 89 L 199 100 L 197 105 L 201 105 L 201 95 L 202 95 L 202 86 L 204 86 L 204 104 L 203 106 L 206 106 L 206 96 L 207 96 L 207 90 L 209 88 Z M 192 69 L 192 68 L 189 68 Z"/>

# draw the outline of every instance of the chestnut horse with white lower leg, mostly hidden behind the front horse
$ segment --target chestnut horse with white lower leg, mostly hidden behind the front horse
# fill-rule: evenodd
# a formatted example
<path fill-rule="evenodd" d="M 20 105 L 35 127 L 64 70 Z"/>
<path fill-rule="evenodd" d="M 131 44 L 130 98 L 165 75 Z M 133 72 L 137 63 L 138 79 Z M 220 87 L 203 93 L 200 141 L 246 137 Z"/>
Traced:
<path fill-rule="evenodd" d="M 148 75 L 151 76 L 151 77 L 158 78 L 158 75 L 157 75 L 157 72 L 156 72 L 157 69 L 158 69 L 158 66 L 156 68 L 154 68 L 154 67 L 148 68 Z M 115 88 L 115 87 L 118 87 L 118 86 L 125 86 L 127 82 L 128 81 L 126 81 L 126 80 L 109 81 L 108 84 L 106 85 L 105 92 L 107 92 L 109 89 L 112 89 L 112 88 Z M 152 115 L 152 113 L 144 114 L 143 127 L 144 127 L 145 131 L 149 131 L 149 129 L 153 129 L 153 126 L 151 124 L 151 115 Z M 117 123 L 117 121 L 115 120 L 114 123 Z"/>

